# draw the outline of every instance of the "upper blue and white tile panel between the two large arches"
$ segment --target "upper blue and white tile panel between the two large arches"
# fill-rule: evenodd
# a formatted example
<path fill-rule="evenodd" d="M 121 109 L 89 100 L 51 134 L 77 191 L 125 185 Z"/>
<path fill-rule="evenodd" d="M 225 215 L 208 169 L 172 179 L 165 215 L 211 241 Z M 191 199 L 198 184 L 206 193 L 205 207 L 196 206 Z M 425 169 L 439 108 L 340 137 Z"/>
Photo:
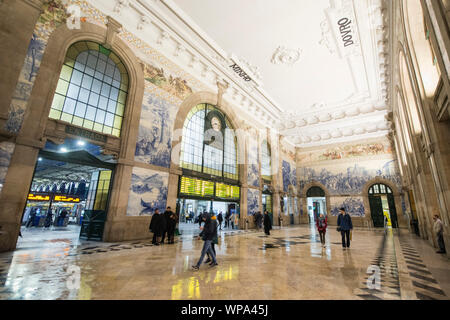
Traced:
<path fill-rule="evenodd" d="M 153 94 L 144 95 L 136 143 L 136 161 L 170 167 L 172 130 L 177 109 L 177 106 Z"/>

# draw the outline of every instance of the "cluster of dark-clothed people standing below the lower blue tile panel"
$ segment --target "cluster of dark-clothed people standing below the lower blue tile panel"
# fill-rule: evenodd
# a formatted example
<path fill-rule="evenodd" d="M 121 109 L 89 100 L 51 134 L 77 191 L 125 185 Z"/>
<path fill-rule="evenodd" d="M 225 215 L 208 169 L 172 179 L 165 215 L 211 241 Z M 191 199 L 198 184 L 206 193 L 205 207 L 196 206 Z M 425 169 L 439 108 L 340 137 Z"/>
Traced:
<path fill-rule="evenodd" d="M 156 246 L 163 244 L 167 235 L 167 243 L 175 243 L 175 230 L 178 223 L 178 215 L 167 207 L 161 214 L 159 209 L 155 209 L 150 222 L 150 231 L 153 232 L 152 243 Z"/>

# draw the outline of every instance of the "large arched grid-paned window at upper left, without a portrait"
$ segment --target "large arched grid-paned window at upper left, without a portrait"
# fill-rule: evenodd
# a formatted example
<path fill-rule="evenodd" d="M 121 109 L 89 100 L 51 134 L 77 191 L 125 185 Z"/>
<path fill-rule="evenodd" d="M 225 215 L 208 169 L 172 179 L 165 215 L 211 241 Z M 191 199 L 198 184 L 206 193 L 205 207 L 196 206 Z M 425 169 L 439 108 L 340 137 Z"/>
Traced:
<path fill-rule="evenodd" d="M 102 45 L 80 41 L 67 50 L 49 117 L 120 137 L 128 74 Z"/>

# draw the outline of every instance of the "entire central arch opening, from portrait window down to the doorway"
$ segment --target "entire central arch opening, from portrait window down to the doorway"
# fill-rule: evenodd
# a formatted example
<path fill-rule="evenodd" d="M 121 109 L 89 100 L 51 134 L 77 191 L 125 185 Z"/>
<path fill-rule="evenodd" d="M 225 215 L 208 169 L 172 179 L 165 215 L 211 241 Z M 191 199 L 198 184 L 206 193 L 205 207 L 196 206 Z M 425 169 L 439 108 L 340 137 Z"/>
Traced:
<path fill-rule="evenodd" d="M 217 216 L 220 229 L 238 229 L 237 138 L 216 106 L 201 103 L 191 109 L 184 122 L 180 160 L 177 211 L 182 238 L 200 232 L 203 213 Z"/>

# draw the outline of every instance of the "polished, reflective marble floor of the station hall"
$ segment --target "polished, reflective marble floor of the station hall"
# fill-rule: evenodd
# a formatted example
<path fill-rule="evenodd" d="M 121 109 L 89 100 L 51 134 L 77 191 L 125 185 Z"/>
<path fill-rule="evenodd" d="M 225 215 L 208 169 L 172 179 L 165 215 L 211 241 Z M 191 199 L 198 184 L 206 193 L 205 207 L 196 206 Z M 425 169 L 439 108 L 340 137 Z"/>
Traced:
<path fill-rule="evenodd" d="M 39 230 L 40 231 L 40 230 Z M 0 299 L 344 299 L 447 300 L 450 261 L 427 242 L 391 230 L 353 231 L 350 250 L 330 227 L 322 248 L 314 228 L 233 230 L 216 246 L 219 266 L 191 266 L 203 242 L 84 242 L 73 232 L 45 236 L 0 254 Z M 65 236 L 66 235 L 66 236 Z M 72 235 L 72 236 L 70 236 Z M 45 236 L 45 238 L 44 238 Z M 24 233 L 24 238 L 27 237 Z M 33 245 L 34 243 L 34 245 Z M 25 245 L 26 244 L 26 245 Z M 381 288 L 369 289 L 369 266 Z M 79 278 L 77 272 L 79 271 Z M 78 281 L 79 279 L 79 281 Z"/>

